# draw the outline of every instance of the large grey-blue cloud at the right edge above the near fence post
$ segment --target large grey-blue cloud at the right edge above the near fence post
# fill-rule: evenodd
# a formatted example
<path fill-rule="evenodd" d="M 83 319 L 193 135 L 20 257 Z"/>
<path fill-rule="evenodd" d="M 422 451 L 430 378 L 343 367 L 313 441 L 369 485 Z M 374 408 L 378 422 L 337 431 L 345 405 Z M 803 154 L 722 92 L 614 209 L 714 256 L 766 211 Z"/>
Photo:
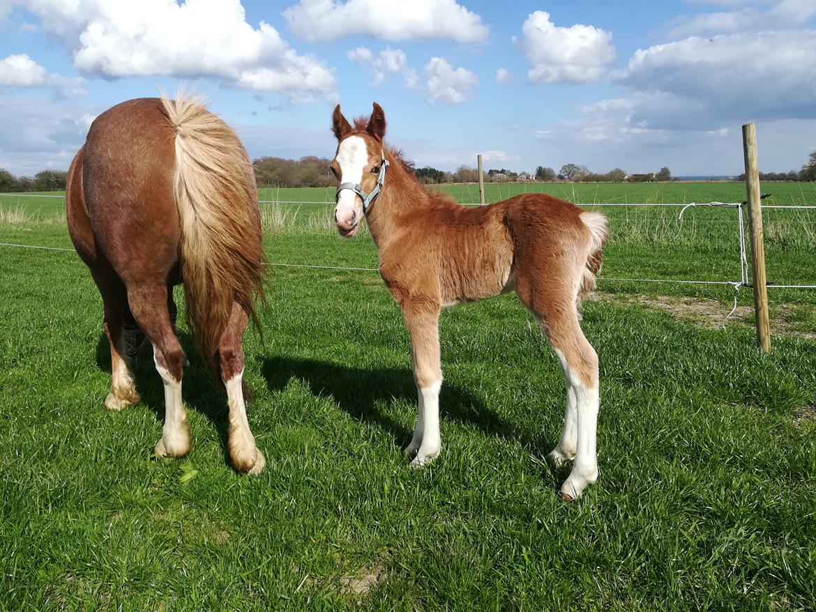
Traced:
<path fill-rule="evenodd" d="M 636 120 L 667 114 L 675 100 L 681 120 L 745 122 L 816 117 L 816 32 L 735 34 L 687 38 L 638 50 L 614 81 L 635 91 L 662 94 Z M 685 100 L 679 104 L 676 100 Z M 642 100 L 638 104 L 643 109 Z M 719 126 L 717 126 L 719 127 Z"/>

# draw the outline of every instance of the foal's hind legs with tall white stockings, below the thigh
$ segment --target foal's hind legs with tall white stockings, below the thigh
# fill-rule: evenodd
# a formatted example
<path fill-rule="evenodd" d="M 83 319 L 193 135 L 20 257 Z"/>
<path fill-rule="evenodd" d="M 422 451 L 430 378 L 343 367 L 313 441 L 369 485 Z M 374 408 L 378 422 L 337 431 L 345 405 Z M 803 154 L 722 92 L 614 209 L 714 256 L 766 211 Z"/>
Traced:
<path fill-rule="evenodd" d="M 567 386 L 564 432 L 549 456 L 555 463 L 574 456 L 570 476 L 561 486 L 561 496 L 576 499 L 598 478 L 598 356 L 583 335 L 574 302 L 564 304 L 563 308 L 553 304 L 546 311 L 536 313 L 536 318 L 561 362 Z"/>

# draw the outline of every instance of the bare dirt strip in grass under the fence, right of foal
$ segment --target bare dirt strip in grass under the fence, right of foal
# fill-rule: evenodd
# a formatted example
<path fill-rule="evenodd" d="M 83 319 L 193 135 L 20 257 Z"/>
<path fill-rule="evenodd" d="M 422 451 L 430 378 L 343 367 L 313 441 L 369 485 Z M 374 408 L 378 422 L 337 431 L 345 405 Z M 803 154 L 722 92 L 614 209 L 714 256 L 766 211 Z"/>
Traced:
<path fill-rule="evenodd" d="M 596 292 L 589 296 L 593 302 L 605 304 L 622 304 L 624 306 L 645 306 L 670 313 L 685 322 L 709 330 L 723 330 L 734 326 L 750 329 L 753 324 L 752 306 L 737 306 L 731 312 L 733 304 L 716 299 L 698 299 L 678 295 L 623 295 L 616 293 Z M 792 321 L 787 316 L 787 304 L 774 306 L 771 313 L 771 334 L 791 335 L 798 338 L 816 338 L 816 326 L 800 321 Z"/>

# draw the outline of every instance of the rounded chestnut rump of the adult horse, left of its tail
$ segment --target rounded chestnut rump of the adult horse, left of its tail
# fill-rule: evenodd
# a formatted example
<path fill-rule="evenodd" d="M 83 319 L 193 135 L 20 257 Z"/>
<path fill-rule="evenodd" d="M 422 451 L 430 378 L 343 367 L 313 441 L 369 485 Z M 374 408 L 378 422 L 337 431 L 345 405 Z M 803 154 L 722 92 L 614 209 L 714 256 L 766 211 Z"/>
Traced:
<path fill-rule="evenodd" d="M 178 263 L 174 143 L 161 100 L 129 100 L 96 118 L 75 164 L 96 248 L 126 283 Z"/>

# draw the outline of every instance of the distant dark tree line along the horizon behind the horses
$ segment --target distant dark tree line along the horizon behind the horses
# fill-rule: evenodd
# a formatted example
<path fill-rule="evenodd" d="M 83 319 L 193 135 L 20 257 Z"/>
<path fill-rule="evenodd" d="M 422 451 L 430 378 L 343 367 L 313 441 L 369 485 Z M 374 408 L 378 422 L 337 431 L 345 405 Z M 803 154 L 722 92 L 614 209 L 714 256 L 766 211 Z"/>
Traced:
<path fill-rule="evenodd" d="M 326 157 L 308 156 L 300 159 L 259 157 L 252 162 L 252 168 L 259 187 L 334 187 L 337 180 L 331 172 L 330 164 L 331 161 Z M 67 175 L 68 173 L 64 171 L 42 170 L 33 176 L 15 176 L 0 168 L 0 192 L 64 191 Z M 454 172 L 425 166 L 415 168 L 415 175 L 424 184 L 477 183 L 479 180 L 479 171 L 469 166 L 459 166 Z M 532 173 L 491 168 L 484 173 L 483 178 L 486 182 L 494 183 L 518 180 L 622 183 L 671 180 L 672 172 L 663 167 L 654 174 L 628 175 L 620 168 L 614 168 L 605 174 L 598 174 L 590 171 L 587 166 L 569 163 L 561 166 L 558 172 L 546 166 L 538 166 Z M 745 174 L 739 175 L 738 180 L 745 180 Z M 808 162 L 800 171 L 760 172 L 760 180 L 816 181 L 816 151 L 810 153 Z"/>

